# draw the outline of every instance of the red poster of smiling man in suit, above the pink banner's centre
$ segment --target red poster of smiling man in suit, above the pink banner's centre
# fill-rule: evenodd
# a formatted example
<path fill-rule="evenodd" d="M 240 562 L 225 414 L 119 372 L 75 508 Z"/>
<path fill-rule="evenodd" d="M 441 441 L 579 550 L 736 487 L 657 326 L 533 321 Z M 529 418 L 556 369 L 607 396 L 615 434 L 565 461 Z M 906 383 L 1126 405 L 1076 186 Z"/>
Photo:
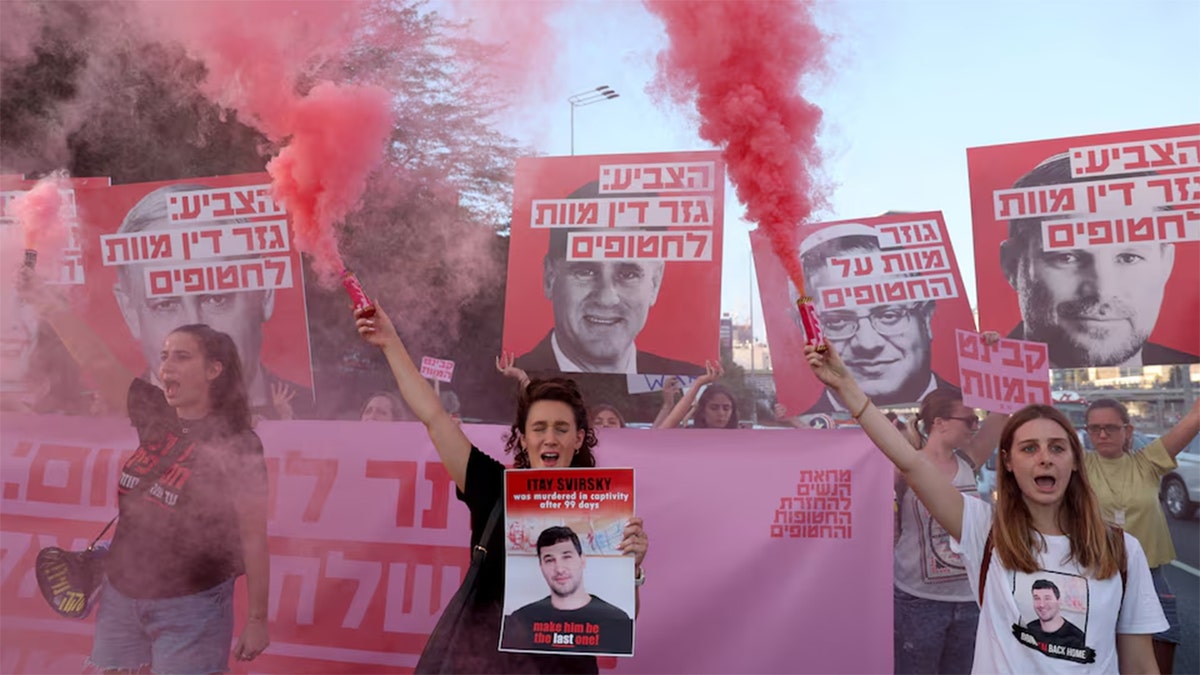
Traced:
<path fill-rule="evenodd" d="M 526 157 L 504 348 L 528 372 L 692 374 L 718 352 L 720 153 Z"/>

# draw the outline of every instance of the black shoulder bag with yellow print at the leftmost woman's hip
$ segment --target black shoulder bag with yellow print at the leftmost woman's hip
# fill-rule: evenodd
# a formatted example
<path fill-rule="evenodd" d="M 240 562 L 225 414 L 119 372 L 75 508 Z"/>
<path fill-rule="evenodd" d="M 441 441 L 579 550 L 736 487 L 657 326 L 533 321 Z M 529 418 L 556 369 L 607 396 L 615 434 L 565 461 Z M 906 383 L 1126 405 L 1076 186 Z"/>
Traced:
<path fill-rule="evenodd" d="M 174 464 L 187 446 L 190 443 L 180 438 L 175 447 L 142 477 L 142 480 L 130 490 L 127 496 L 139 495 L 148 490 L 162 477 L 167 467 Z M 37 551 L 34 573 L 37 577 L 37 587 L 42 591 L 42 597 L 49 603 L 50 609 L 67 619 L 86 619 L 91 614 L 96 591 L 100 590 L 104 580 L 104 558 L 108 557 L 108 545 L 97 544 L 108 528 L 116 522 L 116 518 L 119 516 L 109 520 L 91 544 L 82 551 L 67 551 L 58 546 L 47 546 Z"/>

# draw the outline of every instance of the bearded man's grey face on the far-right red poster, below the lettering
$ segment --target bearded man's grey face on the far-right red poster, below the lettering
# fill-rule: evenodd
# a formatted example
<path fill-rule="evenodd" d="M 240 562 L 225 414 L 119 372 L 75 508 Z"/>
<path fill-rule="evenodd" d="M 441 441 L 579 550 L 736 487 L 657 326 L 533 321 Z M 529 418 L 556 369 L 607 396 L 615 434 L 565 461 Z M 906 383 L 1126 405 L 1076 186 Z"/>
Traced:
<path fill-rule="evenodd" d="M 1175 263 L 1174 246 L 1157 243 L 1043 251 L 1040 237 L 1031 237 L 1019 252 L 1006 274 L 1026 338 L 1050 345 L 1058 368 L 1120 365 L 1134 357 L 1158 321 Z"/>

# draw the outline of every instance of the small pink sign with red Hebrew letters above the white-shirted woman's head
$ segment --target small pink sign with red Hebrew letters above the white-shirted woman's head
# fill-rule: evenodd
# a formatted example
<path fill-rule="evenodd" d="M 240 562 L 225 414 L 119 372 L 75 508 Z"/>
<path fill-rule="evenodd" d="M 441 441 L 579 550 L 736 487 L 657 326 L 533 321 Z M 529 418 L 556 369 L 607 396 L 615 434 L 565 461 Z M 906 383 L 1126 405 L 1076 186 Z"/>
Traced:
<path fill-rule="evenodd" d="M 989 345 L 971 330 L 955 330 L 962 404 L 1013 413 L 1030 404 L 1050 401 L 1050 362 L 1042 342 L 1001 339 Z"/>

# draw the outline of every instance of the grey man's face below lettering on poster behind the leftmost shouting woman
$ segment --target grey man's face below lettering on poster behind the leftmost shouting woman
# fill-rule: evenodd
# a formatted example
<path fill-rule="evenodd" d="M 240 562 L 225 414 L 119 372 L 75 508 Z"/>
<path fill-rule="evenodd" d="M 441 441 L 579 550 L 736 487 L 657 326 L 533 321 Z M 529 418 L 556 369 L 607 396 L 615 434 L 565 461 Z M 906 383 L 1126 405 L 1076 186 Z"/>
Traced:
<path fill-rule="evenodd" d="M 262 352 L 263 323 L 274 310 L 272 291 L 146 297 L 142 268 L 131 267 L 121 270 L 114 292 L 151 371 L 157 368 L 163 340 L 170 331 L 190 323 L 206 323 L 233 339 L 246 377 L 254 372 Z"/>

